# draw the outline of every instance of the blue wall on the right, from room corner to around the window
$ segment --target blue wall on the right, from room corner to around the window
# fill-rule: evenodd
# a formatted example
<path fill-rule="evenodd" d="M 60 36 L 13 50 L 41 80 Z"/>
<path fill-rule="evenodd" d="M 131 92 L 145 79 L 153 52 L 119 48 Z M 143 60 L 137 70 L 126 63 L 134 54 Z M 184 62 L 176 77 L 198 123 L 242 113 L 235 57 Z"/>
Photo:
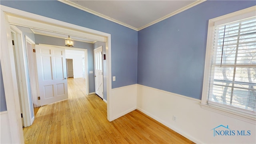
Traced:
<path fill-rule="evenodd" d="M 138 84 L 202 97 L 208 20 L 256 5 L 206 1 L 138 32 Z"/>

